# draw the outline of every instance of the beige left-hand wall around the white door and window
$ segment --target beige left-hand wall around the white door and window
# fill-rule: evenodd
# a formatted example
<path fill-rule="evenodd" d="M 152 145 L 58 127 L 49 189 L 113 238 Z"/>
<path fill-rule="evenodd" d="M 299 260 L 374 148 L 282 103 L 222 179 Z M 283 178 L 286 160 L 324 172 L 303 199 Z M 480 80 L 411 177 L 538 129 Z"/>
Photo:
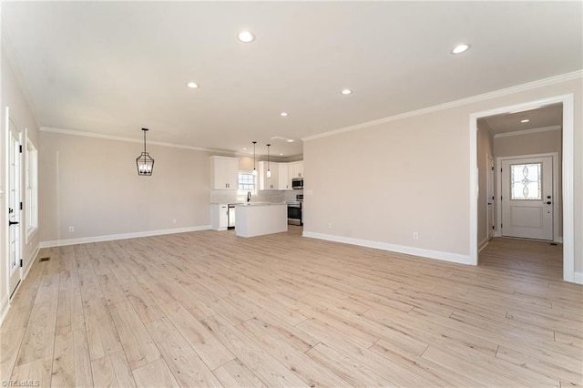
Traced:
<path fill-rule="evenodd" d="M 33 110 L 28 105 L 25 93 L 22 91 L 17 77 L 17 69 L 12 66 L 9 60 L 8 53 L 5 51 L 5 45 L 2 45 L 2 91 L 0 97 L 0 116 L 2 117 L 0 125 L 2 126 L 2 136 L 0 137 L 0 189 L 5 191 L 5 107 L 10 108 L 10 118 L 15 123 L 16 128 L 20 129 L 23 134 L 25 129 L 27 129 L 28 137 L 31 139 L 35 147 L 38 149 L 38 123 Z M 24 138 L 24 135 L 23 135 Z M 24 159 L 23 159 L 24 163 Z M 24 174 L 24 169 L 23 169 Z M 23 175 L 24 179 L 24 175 Z M 24 182 L 23 182 L 24 184 Z M 24 192 L 24 186 L 21 189 Z M 6 225 L 8 220 L 6 219 L 7 203 L 5 195 L 0 195 L 0 206 L 2 211 L 0 211 L 0 320 L 3 318 L 5 311 L 8 306 L 8 292 L 6 284 L 7 268 L 8 268 L 8 258 L 6 249 Z M 26 201 L 25 196 L 23 196 L 23 201 Z M 26 219 L 26 203 L 23 212 L 21 213 L 21 220 Z M 24 230 L 24 228 L 22 228 Z M 25 241 L 25 235 L 22 235 L 23 241 Z M 30 268 L 36 250 L 38 248 L 38 233 L 24 243 L 24 250 L 22 252 L 22 259 L 24 261 L 24 272 Z"/>

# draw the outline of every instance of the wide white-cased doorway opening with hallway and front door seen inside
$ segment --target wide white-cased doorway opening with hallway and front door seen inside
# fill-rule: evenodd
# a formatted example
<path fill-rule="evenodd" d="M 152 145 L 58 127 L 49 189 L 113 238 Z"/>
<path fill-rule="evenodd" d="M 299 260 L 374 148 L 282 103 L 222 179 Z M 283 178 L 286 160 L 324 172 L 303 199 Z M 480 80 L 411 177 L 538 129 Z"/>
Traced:
<path fill-rule="evenodd" d="M 537 122 L 543 122 L 540 121 L 541 117 L 547 117 L 551 112 L 556 115 L 558 113 L 559 122 L 536 125 Z M 483 141 L 484 134 L 478 134 L 478 131 L 486 128 L 492 138 L 489 155 L 496 158 L 496 195 L 494 199 L 488 198 L 492 200 L 492 206 L 496 209 L 495 236 L 548 240 L 547 244 L 549 242 L 556 244 L 562 240 L 562 279 L 575 281 L 573 116 L 572 94 L 470 115 L 470 261 L 473 264 L 478 264 L 478 248 L 484 248 L 491 235 L 490 230 L 480 230 L 481 223 L 478 223 L 478 219 L 487 220 L 486 214 L 490 214 L 488 202 L 485 201 L 486 196 L 479 195 L 480 189 L 488 191 L 486 179 L 480 176 L 487 172 L 486 162 L 484 166 L 480 166 L 480 158 L 478 158 L 478 154 L 484 153 L 484 144 L 479 143 Z M 537 118 L 533 120 L 529 117 Z M 529 123 L 528 119 L 530 122 L 535 121 L 534 125 L 525 125 Z M 520 125 L 523 126 L 520 127 Z M 495 138 L 501 139 L 496 142 L 496 145 Z M 540 138 L 554 138 L 557 149 L 548 149 L 549 144 L 544 141 L 540 143 Z M 550 159 L 547 158 L 549 156 Z M 516 182 L 514 191 L 513 174 Z M 543 188 L 542 177 L 553 174 L 555 181 Z M 505 196 L 506 199 L 512 199 L 513 195 L 517 202 L 507 200 L 506 208 L 508 209 L 505 214 Z M 519 198 L 520 195 L 523 195 L 523 199 Z M 507 222 L 514 222 L 516 225 L 509 225 Z M 509 231 L 506 231 L 505 226 Z M 537 228 L 540 226 L 539 233 L 543 233 L 540 231 L 542 228 L 547 234 L 532 234 L 531 232 L 537 229 L 535 226 Z M 484 237 L 480 236 L 480 233 L 486 236 L 486 244 L 481 243 Z"/>

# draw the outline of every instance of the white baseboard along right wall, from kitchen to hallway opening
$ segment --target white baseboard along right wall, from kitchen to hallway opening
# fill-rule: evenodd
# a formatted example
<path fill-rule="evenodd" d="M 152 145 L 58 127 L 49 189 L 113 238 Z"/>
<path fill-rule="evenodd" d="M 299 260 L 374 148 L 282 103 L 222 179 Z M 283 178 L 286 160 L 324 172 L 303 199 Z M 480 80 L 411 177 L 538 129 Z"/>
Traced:
<path fill-rule="evenodd" d="M 303 237 L 310 237 L 312 239 L 328 240 L 335 242 L 343 242 L 345 244 L 359 245 L 361 247 L 374 248 L 377 250 L 389 250 L 392 252 L 404 253 L 413 256 L 420 256 L 428 259 L 445 260 L 456 262 L 458 264 L 471 265 L 469 255 L 460 255 L 458 253 L 442 252 L 439 250 L 424 250 L 421 248 L 406 247 L 404 245 L 389 244 L 387 242 L 360 240 L 349 237 L 334 236 L 331 234 L 314 233 L 311 231 L 304 231 Z"/>

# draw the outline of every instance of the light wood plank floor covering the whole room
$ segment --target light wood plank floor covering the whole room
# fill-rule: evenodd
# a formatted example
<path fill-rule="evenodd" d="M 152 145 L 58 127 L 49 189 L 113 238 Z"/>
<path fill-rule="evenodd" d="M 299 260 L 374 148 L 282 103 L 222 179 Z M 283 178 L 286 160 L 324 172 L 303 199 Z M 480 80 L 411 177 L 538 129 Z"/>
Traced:
<path fill-rule="evenodd" d="M 561 247 L 477 267 L 201 231 L 42 250 L 1 326 L 40 386 L 583 385 L 583 287 Z M 14 385 L 14 384 L 13 384 Z"/>

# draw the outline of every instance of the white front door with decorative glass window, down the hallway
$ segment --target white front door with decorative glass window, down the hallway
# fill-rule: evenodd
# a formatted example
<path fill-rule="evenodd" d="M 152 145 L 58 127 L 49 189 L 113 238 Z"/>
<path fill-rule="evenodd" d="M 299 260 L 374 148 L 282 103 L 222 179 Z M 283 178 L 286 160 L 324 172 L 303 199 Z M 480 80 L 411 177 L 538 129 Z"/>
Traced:
<path fill-rule="evenodd" d="M 502 161 L 502 235 L 553 240 L 553 158 Z"/>

